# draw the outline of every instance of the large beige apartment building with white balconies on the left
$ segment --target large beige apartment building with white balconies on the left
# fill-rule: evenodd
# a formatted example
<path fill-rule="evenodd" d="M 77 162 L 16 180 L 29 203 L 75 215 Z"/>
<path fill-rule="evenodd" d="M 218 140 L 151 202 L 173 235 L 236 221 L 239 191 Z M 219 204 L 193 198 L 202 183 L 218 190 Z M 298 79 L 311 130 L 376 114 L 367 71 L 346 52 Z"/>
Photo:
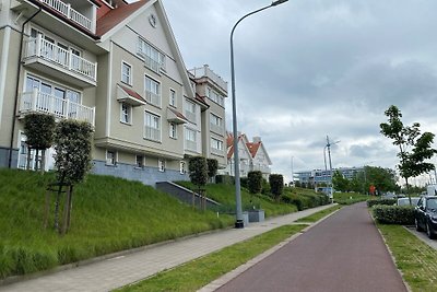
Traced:
<path fill-rule="evenodd" d="M 190 156 L 221 157 L 204 141 L 224 131 L 203 119 L 224 125 L 224 106 L 196 92 L 214 79 L 187 71 L 161 0 L 7 1 L 0 16 L 1 166 L 24 166 L 33 112 L 94 125 L 96 174 L 154 185 L 188 179 Z"/>

